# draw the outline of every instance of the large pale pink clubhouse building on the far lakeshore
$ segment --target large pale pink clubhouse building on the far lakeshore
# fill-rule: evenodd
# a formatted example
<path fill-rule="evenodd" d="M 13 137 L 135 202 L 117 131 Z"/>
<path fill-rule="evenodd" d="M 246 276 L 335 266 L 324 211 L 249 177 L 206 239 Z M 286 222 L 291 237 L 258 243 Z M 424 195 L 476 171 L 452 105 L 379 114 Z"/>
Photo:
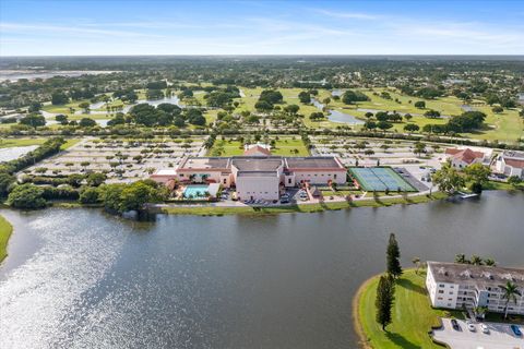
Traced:
<path fill-rule="evenodd" d="M 234 156 L 188 157 L 172 172 L 159 170 L 151 178 L 166 183 L 221 183 L 235 186 L 239 200 L 278 200 L 281 188 L 302 183 L 344 184 L 347 170 L 336 157 Z"/>

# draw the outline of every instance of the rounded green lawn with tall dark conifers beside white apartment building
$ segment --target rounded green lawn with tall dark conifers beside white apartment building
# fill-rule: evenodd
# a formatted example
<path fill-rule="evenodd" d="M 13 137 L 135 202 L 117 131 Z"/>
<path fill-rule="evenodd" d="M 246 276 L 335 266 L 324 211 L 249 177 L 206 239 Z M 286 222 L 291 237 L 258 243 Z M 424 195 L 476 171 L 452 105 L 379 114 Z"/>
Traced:
<path fill-rule="evenodd" d="M 360 333 L 367 338 L 367 347 L 376 349 L 389 348 L 443 348 L 432 342 L 428 335 L 431 326 L 439 326 L 439 316 L 462 317 L 460 312 L 434 310 L 430 306 L 426 292 L 426 272 L 415 274 L 414 269 L 405 270 L 395 288 L 393 305 L 393 323 L 383 332 L 376 322 L 374 299 L 379 277 L 376 276 L 361 286 L 357 293 L 355 306 L 360 324 Z"/>

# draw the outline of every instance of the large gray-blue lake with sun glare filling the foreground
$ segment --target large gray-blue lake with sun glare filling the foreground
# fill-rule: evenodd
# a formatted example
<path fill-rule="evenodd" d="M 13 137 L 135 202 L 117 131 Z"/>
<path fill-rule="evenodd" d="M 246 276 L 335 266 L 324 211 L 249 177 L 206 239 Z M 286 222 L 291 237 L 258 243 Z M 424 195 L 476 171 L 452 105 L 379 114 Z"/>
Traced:
<path fill-rule="evenodd" d="M 22 213 L 0 266 L 0 348 L 356 348 L 352 299 L 402 262 L 524 266 L 524 194 L 276 216 Z"/>

